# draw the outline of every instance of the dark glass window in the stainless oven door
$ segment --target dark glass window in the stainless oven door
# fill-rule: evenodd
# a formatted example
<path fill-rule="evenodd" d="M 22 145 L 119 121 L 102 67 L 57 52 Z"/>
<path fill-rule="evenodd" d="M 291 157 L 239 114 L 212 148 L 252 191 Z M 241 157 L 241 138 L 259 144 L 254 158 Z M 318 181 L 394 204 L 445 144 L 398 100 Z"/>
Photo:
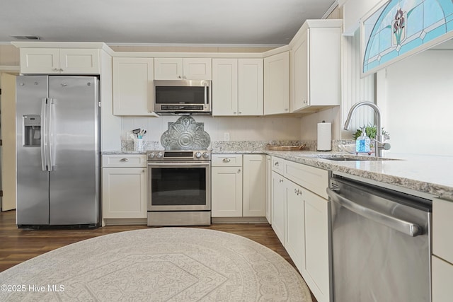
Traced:
<path fill-rule="evenodd" d="M 206 168 L 152 168 L 151 205 L 206 205 Z"/>

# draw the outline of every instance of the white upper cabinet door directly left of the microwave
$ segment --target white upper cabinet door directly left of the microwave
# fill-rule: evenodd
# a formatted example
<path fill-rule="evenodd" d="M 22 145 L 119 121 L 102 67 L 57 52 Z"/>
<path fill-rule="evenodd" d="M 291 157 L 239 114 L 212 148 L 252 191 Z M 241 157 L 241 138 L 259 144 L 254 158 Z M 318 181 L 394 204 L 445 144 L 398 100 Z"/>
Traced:
<path fill-rule="evenodd" d="M 113 58 L 113 114 L 150 115 L 153 59 Z"/>

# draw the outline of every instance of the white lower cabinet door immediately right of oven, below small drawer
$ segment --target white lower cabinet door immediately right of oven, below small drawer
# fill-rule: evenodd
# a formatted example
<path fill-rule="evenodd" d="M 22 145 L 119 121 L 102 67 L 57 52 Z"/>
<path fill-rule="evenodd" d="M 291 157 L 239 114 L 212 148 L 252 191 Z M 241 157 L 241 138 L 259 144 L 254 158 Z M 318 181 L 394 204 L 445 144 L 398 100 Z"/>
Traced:
<path fill-rule="evenodd" d="M 241 167 L 212 167 L 211 182 L 212 217 L 241 217 Z"/>

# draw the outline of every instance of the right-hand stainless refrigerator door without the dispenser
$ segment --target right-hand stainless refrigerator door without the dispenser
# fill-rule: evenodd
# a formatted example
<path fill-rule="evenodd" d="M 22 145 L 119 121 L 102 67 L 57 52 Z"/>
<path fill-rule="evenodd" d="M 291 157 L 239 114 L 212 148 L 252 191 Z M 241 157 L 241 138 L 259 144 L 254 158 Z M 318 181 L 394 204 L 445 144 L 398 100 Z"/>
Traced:
<path fill-rule="evenodd" d="M 99 99 L 93 76 L 50 76 L 50 224 L 99 218 Z"/>

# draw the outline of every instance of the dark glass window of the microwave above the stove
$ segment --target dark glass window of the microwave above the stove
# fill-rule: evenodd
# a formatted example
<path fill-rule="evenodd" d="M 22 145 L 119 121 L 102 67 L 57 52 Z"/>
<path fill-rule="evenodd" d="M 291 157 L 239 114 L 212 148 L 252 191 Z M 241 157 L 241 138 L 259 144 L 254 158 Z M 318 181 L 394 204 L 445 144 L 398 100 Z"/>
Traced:
<path fill-rule="evenodd" d="M 209 87 L 207 87 L 207 95 Z M 156 104 L 204 104 L 205 87 L 156 86 Z"/>

